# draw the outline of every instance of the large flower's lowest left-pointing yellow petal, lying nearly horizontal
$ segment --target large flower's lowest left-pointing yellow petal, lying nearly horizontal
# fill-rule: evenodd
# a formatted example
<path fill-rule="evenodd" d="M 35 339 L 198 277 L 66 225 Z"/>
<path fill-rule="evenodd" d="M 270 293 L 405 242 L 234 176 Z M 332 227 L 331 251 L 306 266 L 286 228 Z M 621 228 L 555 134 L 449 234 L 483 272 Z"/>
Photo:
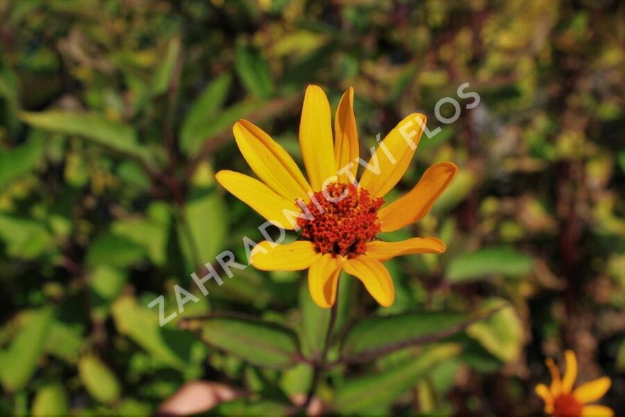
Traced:
<path fill-rule="evenodd" d="M 321 256 L 315 252 L 313 243 L 308 241 L 272 247 L 272 243 L 265 240 L 254 247 L 251 263 L 265 271 L 299 271 L 319 261 Z"/>

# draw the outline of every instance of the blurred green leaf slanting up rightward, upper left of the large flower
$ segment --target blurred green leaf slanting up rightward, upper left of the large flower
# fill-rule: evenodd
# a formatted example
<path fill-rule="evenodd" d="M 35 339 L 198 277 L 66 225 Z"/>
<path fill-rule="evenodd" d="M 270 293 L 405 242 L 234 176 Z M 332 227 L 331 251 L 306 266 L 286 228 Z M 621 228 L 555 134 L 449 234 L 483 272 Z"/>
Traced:
<path fill-rule="evenodd" d="M 215 117 L 224 104 L 231 83 L 232 76 L 226 72 L 206 86 L 185 115 L 180 131 L 181 143 L 199 143 L 206 138 L 207 121 Z"/>

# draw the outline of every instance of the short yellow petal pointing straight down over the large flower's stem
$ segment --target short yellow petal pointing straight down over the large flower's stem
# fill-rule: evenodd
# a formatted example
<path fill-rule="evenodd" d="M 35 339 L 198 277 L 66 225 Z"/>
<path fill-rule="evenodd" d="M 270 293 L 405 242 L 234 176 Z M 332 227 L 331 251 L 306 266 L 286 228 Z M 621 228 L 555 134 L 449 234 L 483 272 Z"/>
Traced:
<path fill-rule="evenodd" d="M 341 273 L 342 260 L 331 254 L 324 254 L 321 259 L 310 265 L 308 270 L 308 290 L 315 304 L 328 309 L 336 301 L 336 288 Z"/>

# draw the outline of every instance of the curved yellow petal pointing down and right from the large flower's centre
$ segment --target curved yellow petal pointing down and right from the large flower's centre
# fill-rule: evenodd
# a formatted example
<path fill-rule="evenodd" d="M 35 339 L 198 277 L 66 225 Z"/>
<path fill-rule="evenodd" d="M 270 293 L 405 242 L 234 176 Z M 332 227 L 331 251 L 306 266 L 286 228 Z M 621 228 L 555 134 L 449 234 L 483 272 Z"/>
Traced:
<path fill-rule="evenodd" d="M 395 300 L 395 289 L 388 270 L 377 259 L 367 255 L 347 259 L 343 270 L 349 275 L 360 279 L 365 284 L 369 294 L 381 306 L 390 306 Z"/>

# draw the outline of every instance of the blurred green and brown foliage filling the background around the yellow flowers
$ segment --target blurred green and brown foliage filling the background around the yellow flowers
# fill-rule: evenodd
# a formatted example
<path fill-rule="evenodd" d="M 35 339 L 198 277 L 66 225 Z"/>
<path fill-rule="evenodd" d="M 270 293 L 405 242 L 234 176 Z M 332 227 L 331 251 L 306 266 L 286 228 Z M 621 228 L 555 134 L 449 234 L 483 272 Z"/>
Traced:
<path fill-rule="evenodd" d="M 192 402 L 221 402 L 217 414 L 305 401 L 315 372 L 294 357 L 318 357 L 328 316 L 302 274 L 248 268 L 163 329 L 147 304 L 164 294 L 175 311 L 174 284 L 192 290 L 199 265 L 224 249 L 244 259 L 242 236 L 260 238 L 263 220 L 213 173 L 249 171 L 240 117 L 299 158 L 308 83 L 333 106 L 354 86 L 364 149 L 413 111 L 442 126 L 401 189 L 436 161 L 460 167 L 433 213 L 392 236 L 441 236 L 448 252 L 388 262 L 390 309 L 342 279 L 330 357 L 506 303 L 443 342 L 332 368 L 310 407 L 535 414 L 544 357 L 570 347 L 581 379 L 610 376 L 606 404 L 625 410 L 624 6 L 1 1 L 0 413 L 152 414 L 198 379 Z M 441 125 L 436 102 L 465 82 L 481 104 Z M 275 325 L 184 320 L 224 311 Z"/>

